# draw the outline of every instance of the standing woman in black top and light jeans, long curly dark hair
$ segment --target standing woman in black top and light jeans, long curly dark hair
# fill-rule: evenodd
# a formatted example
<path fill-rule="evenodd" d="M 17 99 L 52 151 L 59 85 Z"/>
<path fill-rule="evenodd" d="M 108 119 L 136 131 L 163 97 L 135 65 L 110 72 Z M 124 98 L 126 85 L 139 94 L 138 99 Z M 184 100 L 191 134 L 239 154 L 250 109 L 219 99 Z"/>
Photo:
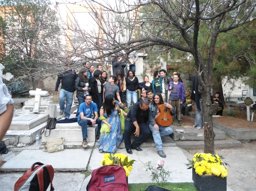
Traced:
<path fill-rule="evenodd" d="M 138 87 L 139 87 L 139 80 L 135 77 L 135 72 L 132 70 L 128 70 L 127 77 L 125 78 L 126 81 L 126 103 L 127 108 L 130 108 L 132 100 L 134 103 L 138 100 Z"/>

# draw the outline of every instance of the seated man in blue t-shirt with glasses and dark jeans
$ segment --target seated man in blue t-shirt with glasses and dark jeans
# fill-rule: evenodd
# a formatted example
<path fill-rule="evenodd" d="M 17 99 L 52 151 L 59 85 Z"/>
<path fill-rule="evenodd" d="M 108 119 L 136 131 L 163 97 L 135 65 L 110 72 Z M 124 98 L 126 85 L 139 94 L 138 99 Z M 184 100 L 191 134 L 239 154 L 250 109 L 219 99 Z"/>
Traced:
<path fill-rule="evenodd" d="M 97 109 L 97 104 L 91 102 L 91 95 L 86 95 L 85 96 L 85 102 L 79 105 L 79 115 L 77 118 L 77 122 L 79 125 L 82 126 L 82 135 L 83 135 L 83 142 L 82 142 L 82 147 L 86 148 L 88 147 L 87 145 L 87 125 L 95 125 L 98 124 L 98 131 L 100 132 L 101 128 L 101 121 L 98 118 L 98 109 Z M 94 112 L 95 118 L 91 118 L 92 111 Z"/>

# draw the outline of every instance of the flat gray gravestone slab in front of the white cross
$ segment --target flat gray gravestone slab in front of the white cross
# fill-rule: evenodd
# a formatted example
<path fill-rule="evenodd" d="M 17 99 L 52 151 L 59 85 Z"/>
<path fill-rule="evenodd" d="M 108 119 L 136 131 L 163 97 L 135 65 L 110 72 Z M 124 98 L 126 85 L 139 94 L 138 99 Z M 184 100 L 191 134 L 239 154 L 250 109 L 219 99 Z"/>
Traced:
<path fill-rule="evenodd" d="M 12 118 L 9 130 L 29 130 L 47 121 L 49 114 L 25 114 Z"/>

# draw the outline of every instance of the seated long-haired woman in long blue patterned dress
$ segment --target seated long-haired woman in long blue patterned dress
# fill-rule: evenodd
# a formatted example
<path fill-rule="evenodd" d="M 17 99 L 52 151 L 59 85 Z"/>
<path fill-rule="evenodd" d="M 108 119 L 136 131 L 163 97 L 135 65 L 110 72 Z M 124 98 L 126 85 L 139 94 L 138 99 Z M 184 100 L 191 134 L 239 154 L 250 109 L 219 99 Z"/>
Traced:
<path fill-rule="evenodd" d="M 123 133 L 121 129 L 121 120 L 118 116 L 121 110 L 117 104 L 115 104 L 115 97 L 111 94 L 107 95 L 103 106 L 100 108 L 101 125 L 104 123 L 108 126 L 109 132 L 100 133 L 99 152 L 115 153 L 118 146 L 123 140 Z M 127 113 L 123 111 L 123 114 L 127 116 Z M 105 119 L 102 119 L 105 117 Z"/>

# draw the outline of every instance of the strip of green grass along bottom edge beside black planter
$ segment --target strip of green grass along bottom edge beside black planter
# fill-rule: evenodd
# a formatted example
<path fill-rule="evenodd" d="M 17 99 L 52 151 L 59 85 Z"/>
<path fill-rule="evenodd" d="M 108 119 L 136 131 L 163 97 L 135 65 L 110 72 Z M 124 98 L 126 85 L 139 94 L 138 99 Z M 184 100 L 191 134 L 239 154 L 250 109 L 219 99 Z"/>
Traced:
<path fill-rule="evenodd" d="M 179 191 L 197 191 L 196 188 L 188 182 L 184 183 L 170 183 L 166 182 L 163 183 L 163 186 L 157 184 L 157 183 L 139 183 L 139 184 L 129 184 L 129 191 L 144 191 L 146 190 L 149 186 L 151 185 L 156 185 L 160 188 L 165 188 L 168 190 L 179 190 Z"/>

